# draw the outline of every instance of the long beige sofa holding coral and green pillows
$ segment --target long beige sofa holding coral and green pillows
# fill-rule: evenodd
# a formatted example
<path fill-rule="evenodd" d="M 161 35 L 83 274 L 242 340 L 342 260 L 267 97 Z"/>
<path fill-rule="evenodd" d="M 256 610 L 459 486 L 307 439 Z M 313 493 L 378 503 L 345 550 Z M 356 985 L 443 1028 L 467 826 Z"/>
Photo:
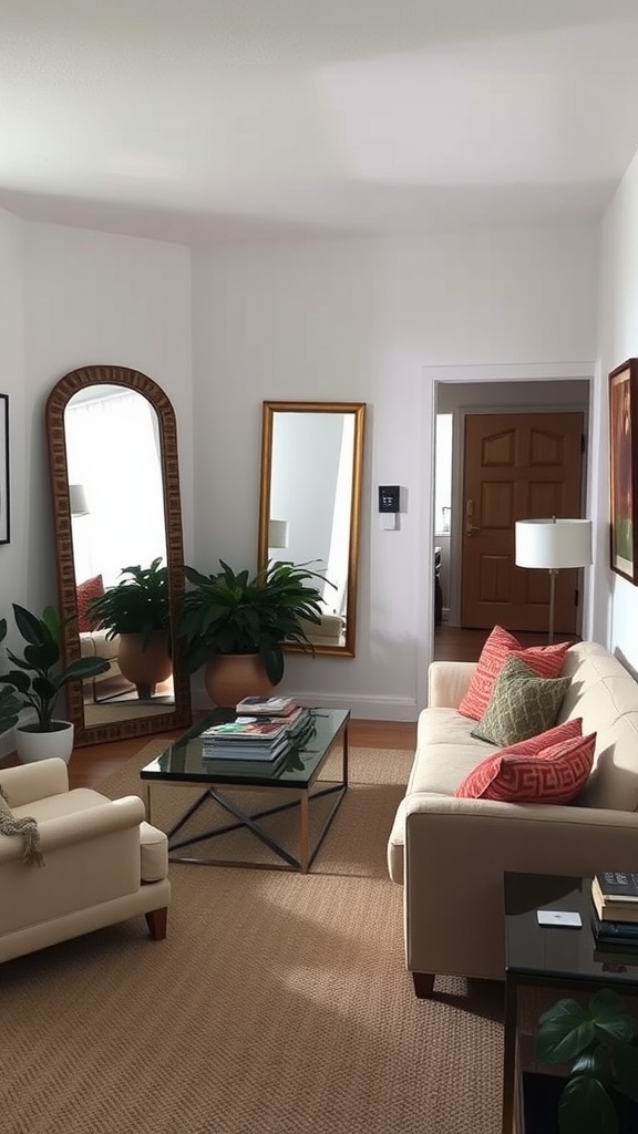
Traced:
<path fill-rule="evenodd" d="M 638 684 L 603 646 L 579 643 L 559 721 L 597 733 L 590 778 L 569 806 L 454 798 L 494 745 L 456 705 L 475 666 L 433 662 L 408 790 L 388 841 L 403 886 L 405 964 L 417 996 L 436 974 L 504 978 L 503 872 L 590 877 L 638 862 Z"/>

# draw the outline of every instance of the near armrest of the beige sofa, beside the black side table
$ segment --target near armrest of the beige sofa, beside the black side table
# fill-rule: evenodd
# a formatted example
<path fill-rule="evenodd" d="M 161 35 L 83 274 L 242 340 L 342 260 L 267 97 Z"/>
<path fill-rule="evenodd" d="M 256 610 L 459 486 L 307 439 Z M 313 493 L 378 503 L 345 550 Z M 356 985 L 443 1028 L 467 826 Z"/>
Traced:
<path fill-rule="evenodd" d="M 590 878 L 636 864 L 638 814 L 414 794 L 405 801 L 410 971 L 505 974 L 503 873 Z"/>

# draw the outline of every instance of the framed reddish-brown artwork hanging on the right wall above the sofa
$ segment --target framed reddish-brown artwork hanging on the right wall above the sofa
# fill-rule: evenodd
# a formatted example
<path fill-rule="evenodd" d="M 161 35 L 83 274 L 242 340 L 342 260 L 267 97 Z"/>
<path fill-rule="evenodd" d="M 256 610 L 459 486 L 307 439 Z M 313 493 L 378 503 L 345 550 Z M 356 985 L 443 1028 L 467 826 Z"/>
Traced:
<path fill-rule="evenodd" d="M 638 358 L 610 374 L 611 568 L 638 585 Z"/>

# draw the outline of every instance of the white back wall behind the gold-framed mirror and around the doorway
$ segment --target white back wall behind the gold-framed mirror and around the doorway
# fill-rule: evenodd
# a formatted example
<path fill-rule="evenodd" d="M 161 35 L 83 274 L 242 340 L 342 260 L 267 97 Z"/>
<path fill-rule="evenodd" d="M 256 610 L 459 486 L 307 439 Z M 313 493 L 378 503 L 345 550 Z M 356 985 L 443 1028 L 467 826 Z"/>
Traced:
<path fill-rule="evenodd" d="M 195 566 L 254 566 L 263 399 L 368 404 L 356 658 L 292 657 L 283 688 L 355 716 L 415 716 L 433 621 L 434 373 L 594 358 L 597 266 L 589 227 L 193 253 Z M 396 532 L 378 523 L 380 483 L 408 489 Z"/>

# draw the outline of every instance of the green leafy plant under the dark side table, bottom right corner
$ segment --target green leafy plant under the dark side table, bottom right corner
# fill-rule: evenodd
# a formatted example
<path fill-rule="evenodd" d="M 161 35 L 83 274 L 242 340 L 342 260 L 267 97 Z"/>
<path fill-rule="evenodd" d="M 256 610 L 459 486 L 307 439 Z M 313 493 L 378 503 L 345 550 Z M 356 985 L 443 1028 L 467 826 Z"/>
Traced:
<path fill-rule="evenodd" d="M 620 1097 L 638 1103 L 638 1019 L 602 989 L 587 1006 L 557 1000 L 539 1019 L 542 1063 L 571 1064 L 559 1105 L 561 1134 L 619 1134 Z"/>

